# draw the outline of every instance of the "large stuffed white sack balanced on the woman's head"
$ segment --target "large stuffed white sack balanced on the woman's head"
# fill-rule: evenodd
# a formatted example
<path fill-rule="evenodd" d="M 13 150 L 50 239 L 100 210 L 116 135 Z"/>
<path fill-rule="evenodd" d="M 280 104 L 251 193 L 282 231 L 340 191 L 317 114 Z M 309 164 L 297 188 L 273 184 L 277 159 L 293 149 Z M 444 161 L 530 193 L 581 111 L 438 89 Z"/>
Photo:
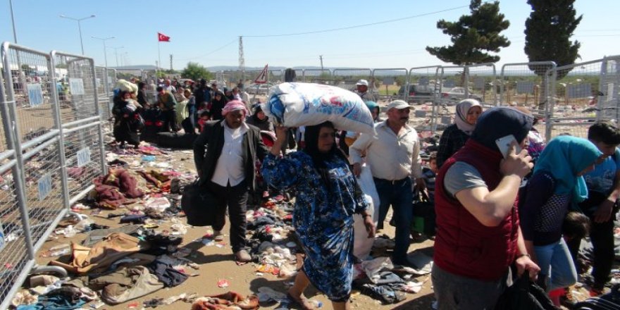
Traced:
<path fill-rule="evenodd" d="M 330 121 L 337 129 L 373 134 L 373 117 L 364 101 L 347 89 L 314 83 L 271 87 L 263 111 L 276 125 L 299 127 Z"/>

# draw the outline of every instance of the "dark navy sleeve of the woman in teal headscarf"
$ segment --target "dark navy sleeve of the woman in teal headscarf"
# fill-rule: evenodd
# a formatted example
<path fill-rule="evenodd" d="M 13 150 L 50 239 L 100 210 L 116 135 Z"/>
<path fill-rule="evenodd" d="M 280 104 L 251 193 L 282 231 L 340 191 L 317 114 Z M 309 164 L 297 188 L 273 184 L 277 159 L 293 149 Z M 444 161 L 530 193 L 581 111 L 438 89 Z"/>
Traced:
<path fill-rule="evenodd" d="M 534 225 L 539 214 L 538 211 L 547 204 L 547 200 L 553 194 L 554 187 L 554 181 L 547 173 L 535 173 L 529 180 L 526 188 L 526 200 L 519 208 L 519 223 L 523 239 L 534 239 Z"/>

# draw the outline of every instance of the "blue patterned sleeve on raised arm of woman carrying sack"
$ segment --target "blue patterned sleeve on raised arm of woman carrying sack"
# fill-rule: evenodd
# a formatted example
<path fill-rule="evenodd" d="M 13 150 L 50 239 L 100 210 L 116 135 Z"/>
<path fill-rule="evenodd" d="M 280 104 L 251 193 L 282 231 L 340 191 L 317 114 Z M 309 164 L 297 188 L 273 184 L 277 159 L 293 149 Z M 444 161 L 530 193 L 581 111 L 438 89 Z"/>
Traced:
<path fill-rule="evenodd" d="M 263 159 L 261 174 L 268 185 L 278 190 L 288 190 L 302 178 L 304 166 L 308 164 L 296 153 L 280 157 L 270 152 Z"/>

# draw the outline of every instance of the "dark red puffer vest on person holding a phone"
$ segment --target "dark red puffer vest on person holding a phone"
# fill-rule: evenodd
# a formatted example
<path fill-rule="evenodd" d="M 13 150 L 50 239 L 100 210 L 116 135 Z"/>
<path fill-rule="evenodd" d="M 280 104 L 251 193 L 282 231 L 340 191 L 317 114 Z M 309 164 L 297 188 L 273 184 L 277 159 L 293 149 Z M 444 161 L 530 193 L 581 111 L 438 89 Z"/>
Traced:
<path fill-rule="evenodd" d="M 449 273 L 478 280 L 498 280 L 515 259 L 519 232 L 517 202 L 500 225 L 487 227 L 457 199 L 450 197 L 443 187 L 447 169 L 455 162 L 463 161 L 481 173 L 489 192 L 495 190 L 502 180 L 499 171 L 501 160 L 499 151 L 470 139 L 442 165 L 438 173 L 435 186 L 438 231 L 433 259 L 437 266 Z"/>

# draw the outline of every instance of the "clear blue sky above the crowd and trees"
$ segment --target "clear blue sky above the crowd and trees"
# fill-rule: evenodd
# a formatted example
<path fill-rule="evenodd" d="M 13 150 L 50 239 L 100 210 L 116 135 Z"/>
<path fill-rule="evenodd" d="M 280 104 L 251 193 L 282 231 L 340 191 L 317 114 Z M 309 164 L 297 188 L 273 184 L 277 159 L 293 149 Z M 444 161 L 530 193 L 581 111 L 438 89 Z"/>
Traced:
<path fill-rule="evenodd" d="M 158 58 L 157 32 L 171 37 L 161 43 L 163 68 L 185 67 L 187 61 L 204 66 L 237 66 L 238 37 L 244 36 L 245 65 L 411 68 L 442 64 L 424 48 L 450 43 L 435 25 L 437 20 L 457 20 L 469 13 L 468 0 L 443 1 L 77 1 L 13 0 L 18 43 L 50 51 L 80 54 L 77 22 L 58 16 L 82 18 L 85 54 L 104 64 L 104 47 L 91 37 L 116 37 L 107 41 L 118 51 L 118 64 L 154 65 Z M 458 8 L 461 7 L 461 8 Z M 620 54 L 620 1 L 578 0 L 583 20 L 574 39 L 581 42 L 583 61 Z M 456 8 L 456 9 L 452 9 Z M 440 12 L 441 13 L 434 13 Z M 527 61 L 523 54 L 524 24 L 530 13 L 525 0 L 502 0 L 500 11 L 511 25 L 504 32 L 511 46 L 500 52 L 500 63 Z M 354 25 L 382 23 L 347 30 L 307 35 Z M 0 0 L 0 41 L 13 42 L 8 0 Z M 115 49 L 107 49 L 109 66 L 116 66 Z"/>

